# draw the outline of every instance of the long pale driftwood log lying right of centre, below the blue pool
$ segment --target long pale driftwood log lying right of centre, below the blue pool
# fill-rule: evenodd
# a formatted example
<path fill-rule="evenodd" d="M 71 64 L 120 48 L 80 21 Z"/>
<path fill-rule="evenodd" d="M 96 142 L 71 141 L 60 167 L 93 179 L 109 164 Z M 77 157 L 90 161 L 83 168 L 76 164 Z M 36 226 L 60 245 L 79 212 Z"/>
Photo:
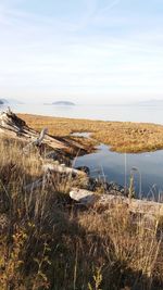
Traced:
<path fill-rule="evenodd" d="M 146 214 L 151 216 L 163 216 L 163 203 L 128 199 L 126 197 L 113 194 L 95 194 L 92 191 L 74 188 L 70 192 L 70 197 L 78 203 L 86 206 L 97 206 L 101 210 L 108 210 L 113 206 L 124 205 L 131 213 Z"/>

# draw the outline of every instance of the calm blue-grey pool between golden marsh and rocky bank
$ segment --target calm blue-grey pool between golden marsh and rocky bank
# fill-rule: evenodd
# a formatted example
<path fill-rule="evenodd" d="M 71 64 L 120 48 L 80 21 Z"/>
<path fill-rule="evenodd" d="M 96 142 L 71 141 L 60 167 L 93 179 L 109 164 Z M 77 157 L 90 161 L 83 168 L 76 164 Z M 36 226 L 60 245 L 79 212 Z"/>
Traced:
<path fill-rule="evenodd" d="M 163 150 L 123 154 L 112 152 L 108 146 L 100 144 L 96 153 L 77 157 L 74 166 L 88 166 L 92 177 L 115 181 L 122 186 L 129 185 L 133 174 L 138 197 L 142 194 L 149 199 L 158 199 L 163 192 Z"/>

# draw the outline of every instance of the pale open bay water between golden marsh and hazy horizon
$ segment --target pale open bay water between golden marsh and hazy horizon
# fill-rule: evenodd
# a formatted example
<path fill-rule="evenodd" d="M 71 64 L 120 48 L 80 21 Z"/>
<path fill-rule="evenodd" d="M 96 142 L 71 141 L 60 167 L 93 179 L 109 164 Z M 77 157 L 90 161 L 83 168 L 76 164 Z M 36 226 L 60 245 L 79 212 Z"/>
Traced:
<path fill-rule="evenodd" d="M 103 121 L 130 121 L 163 124 L 163 106 L 131 105 L 74 105 L 57 106 L 40 104 L 11 105 L 14 112 L 47 116 L 89 118 Z"/>

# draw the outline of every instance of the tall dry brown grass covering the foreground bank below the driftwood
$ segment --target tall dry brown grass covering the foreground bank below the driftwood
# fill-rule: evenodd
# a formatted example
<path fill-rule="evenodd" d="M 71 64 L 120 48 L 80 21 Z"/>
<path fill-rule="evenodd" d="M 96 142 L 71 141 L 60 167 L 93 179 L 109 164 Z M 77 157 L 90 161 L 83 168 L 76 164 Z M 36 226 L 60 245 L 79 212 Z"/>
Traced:
<path fill-rule="evenodd" d="M 76 209 L 67 196 L 73 180 L 59 176 L 25 192 L 41 161 L 0 141 L 0 289 L 163 289 L 159 217 L 147 224 L 116 205 Z"/>

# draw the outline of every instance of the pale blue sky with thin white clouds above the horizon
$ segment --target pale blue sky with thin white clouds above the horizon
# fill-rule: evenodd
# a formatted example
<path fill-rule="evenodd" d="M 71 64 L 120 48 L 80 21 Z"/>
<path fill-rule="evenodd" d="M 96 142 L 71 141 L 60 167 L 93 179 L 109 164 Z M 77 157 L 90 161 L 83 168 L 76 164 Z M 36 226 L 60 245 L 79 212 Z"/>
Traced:
<path fill-rule="evenodd" d="M 163 1 L 0 0 L 0 98 L 163 99 Z"/>

